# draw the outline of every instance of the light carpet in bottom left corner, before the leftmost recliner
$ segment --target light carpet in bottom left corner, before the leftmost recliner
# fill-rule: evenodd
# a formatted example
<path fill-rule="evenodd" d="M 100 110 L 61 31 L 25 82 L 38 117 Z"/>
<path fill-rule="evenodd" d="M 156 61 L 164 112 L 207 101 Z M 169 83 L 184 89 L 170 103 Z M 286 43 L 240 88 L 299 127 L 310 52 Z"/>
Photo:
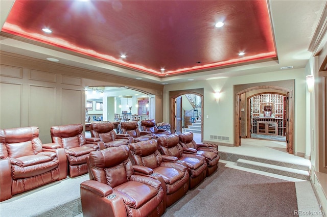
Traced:
<path fill-rule="evenodd" d="M 0 216 L 74 216 L 82 212 L 80 183 L 88 174 L 66 178 L 0 203 Z"/>

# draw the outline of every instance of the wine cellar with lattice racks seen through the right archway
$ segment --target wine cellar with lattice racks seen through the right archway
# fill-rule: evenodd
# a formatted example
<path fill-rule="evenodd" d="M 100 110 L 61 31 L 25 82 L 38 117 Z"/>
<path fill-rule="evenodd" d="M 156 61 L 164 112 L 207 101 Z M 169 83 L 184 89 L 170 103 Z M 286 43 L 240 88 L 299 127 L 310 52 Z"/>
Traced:
<path fill-rule="evenodd" d="M 241 138 L 286 142 L 287 93 L 247 92 L 241 96 Z M 244 109 L 246 108 L 246 109 Z"/>

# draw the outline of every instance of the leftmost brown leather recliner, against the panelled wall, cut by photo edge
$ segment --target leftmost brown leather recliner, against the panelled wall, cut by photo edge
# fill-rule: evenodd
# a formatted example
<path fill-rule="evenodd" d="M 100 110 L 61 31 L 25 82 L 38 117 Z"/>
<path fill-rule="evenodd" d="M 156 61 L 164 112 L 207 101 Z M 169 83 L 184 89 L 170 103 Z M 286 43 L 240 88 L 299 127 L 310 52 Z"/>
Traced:
<path fill-rule="evenodd" d="M 0 129 L 0 201 L 66 177 L 65 150 L 42 144 L 38 127 Z"/>

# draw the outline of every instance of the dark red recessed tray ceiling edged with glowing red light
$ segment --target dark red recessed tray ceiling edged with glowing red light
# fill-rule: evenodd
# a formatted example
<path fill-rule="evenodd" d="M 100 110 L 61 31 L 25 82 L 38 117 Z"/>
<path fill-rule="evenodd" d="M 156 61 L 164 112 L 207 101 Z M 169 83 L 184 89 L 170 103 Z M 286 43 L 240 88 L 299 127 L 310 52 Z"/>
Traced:
<path fill-rule="evenodd" d="M 15 1 L 2 31 L 159 77 L 277 58 L 261 0 Z"/>

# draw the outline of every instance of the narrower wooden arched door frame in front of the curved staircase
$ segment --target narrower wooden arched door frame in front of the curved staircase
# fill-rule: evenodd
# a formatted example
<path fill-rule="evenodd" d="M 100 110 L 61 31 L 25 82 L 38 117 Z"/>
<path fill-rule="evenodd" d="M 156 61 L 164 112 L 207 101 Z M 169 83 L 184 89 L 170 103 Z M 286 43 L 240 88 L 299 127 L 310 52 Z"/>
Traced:
<path fill-rule="evenodd" d="M 203 89 L 194 89 L 194 90 L 180 90 L 180 91 L 172 91 L 170 92 L 170 124 L 171 131 L 175 132 L 175 99 L 181 95 L 185 94 L 195 94 L 201 96 L 201 115 L 203 114 Z M 201 141 L 203 141 L 203 119 L 201 118 Z"/>

